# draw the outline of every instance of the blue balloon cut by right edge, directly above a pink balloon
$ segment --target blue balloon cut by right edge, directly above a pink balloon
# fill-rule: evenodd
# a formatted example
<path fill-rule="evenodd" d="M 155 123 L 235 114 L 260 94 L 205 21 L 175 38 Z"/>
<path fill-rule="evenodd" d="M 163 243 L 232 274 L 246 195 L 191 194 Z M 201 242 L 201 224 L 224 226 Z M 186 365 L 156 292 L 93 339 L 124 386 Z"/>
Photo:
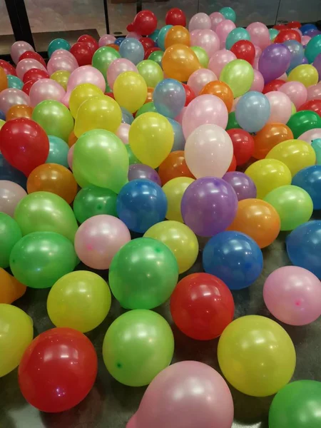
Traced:
<path fill-rule="evenodd" d="M 292 264 L 321 279 L 321 220 L 308 221 L 292 230 L 285 243 Z"/>

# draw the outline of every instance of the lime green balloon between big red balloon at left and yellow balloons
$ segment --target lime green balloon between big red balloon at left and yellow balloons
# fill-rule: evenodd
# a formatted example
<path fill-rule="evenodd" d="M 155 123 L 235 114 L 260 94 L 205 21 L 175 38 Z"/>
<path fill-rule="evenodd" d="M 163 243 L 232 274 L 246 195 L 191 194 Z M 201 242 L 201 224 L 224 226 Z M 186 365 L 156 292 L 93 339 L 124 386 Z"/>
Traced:
<path fill-rule="evenodd" d="M 32 120 L 39 123 L 49 136 L 62 138 L 66 142 L 73 131 L 73 116 L 68 108 L 58 101 L 41 101 L 32 112 Z"/>

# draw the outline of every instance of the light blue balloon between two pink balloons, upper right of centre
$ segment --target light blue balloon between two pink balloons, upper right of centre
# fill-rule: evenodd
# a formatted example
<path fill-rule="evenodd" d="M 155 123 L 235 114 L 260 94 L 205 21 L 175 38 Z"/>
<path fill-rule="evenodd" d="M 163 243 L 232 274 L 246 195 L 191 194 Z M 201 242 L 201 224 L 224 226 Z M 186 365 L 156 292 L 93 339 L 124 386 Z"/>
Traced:
<path fill-rule="evenodd" d="M 240 127 L 248 132 L 258 132 L 270 117 L 270 103 L 263 93 L 250 91 L 245 93 L 235 108 L 235 118 Z"/>

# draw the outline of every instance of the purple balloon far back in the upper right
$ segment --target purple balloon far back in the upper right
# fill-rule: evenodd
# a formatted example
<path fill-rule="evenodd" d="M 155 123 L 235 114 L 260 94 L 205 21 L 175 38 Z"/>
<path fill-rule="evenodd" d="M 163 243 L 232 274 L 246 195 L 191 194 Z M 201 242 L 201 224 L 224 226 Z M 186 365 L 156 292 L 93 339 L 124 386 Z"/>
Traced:
<path fill-rule="evenodd" d="M 282 44 L 272 44 L 265 48 L 258 61 L 258 70 L 265 83 L 282 76 L 290 67 L 291 52 Z"/>

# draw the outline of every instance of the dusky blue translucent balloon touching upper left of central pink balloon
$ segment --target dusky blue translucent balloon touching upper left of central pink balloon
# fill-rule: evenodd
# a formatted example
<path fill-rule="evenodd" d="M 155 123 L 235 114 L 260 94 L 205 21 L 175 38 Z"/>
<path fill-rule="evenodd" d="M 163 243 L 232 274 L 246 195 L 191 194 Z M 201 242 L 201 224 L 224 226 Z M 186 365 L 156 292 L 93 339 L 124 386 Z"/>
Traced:
<path fill-rule="evenodd" d="M 179 81 L 165 78 L 153 91 L 153 103 L 158 113 L 168 118 L 175 118 L 185 106 L 186 93 Z"/>

